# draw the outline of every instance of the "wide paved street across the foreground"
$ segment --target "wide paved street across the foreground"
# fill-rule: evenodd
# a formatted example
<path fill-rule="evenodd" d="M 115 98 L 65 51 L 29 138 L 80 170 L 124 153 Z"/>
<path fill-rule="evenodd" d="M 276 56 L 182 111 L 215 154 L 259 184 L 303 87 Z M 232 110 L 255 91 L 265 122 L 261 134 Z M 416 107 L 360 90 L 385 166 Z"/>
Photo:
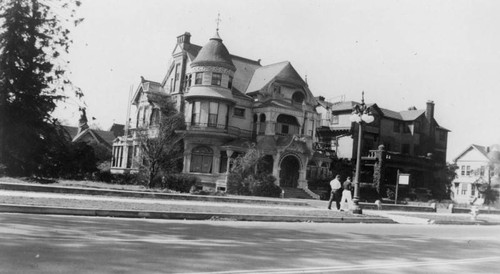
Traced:
<path fill-rule="evenodd" d="M 0 273 L 496 273 L 498 226 L 0 214 Z"/>

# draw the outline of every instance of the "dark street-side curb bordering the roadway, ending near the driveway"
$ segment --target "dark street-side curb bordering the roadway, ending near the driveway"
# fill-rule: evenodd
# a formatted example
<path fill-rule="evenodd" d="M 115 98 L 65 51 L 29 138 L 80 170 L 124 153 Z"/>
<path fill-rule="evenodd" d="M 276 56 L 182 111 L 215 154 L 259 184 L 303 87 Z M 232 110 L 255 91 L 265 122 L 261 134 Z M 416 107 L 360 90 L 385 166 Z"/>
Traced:
<path fill-rule="evenodd" d="M 186 213 L 186 212 L 159 212 L 134 210 L 103 210 L 103 209 L 75 209 L 63 207 L 24 206 L 0 204 L 0 212 L 26 214 L 53 214 L 94 217 L 117 218 L 146 218 L 172 220 L 227 220 L 227 221 L 258 221 L 258 222 L 314 222 L 314 223 L 396 223 L 389 218 L 372 217 L 311 217 L 311 216 L 271 216 L 250 214 L 226 213 Z"/>

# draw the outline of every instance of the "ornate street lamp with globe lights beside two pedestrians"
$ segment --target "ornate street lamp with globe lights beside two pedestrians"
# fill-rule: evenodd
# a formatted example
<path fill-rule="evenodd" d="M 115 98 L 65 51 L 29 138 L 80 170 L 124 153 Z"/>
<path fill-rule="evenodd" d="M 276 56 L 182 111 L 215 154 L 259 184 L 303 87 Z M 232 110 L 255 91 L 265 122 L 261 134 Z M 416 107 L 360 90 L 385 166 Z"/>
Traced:
<path fill-rule="evenodd" d="M 354 197 L 352 199 L 354 203 L 354 208 L 352 213 L 361 214 L 362 210 L 359 207 L 359 175 L 361 171 L 361 142 L 363 140 L 363 125 L 369 124 L 375 120 L 370 112 L 370 109 L 365 105 L 365 92 L 363 91 L 361 97 L 361 104 L 354 106 L 352 115 L 349 117 L 351 122 L 358 123 L 358 150 L 356 155 L 356 174 L 354 177 Z"/>

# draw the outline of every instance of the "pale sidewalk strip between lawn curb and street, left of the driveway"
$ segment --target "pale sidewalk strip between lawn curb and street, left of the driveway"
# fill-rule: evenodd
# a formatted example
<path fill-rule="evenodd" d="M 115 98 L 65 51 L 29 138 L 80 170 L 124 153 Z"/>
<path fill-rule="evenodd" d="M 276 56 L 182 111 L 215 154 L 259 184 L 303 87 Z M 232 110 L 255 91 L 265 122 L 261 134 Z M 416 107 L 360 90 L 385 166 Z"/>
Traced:
<path fill-rule="evenodd" d="M 0 190 L 0 212 L 189 220 L 393 223 L 377 215 L 358 216 L 319 209 L 304 201 L 299 201 L 302 205 L 293 201 L 283 204 L 259 201 L 207 202 Z"/>

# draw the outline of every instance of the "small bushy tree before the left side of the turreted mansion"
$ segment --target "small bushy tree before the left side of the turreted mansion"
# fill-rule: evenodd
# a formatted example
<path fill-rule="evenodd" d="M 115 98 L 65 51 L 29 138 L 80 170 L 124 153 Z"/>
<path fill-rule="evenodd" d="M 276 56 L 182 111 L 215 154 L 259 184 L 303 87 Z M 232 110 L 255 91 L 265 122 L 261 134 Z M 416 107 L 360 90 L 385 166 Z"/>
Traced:
<path fill-rule="evenodd" d="M 178 112 L 175 104 L 165 95 L 150 96 L 150 103 L 159 107 L 158 124 L 144 125 L 137 129 L 139 157 L 136 164 L 146 179 L 148 187 L 154 186 L 154 179 L 160 171 L 179 172 L 182 165 L 184 134 L 184 115 Z"/>

